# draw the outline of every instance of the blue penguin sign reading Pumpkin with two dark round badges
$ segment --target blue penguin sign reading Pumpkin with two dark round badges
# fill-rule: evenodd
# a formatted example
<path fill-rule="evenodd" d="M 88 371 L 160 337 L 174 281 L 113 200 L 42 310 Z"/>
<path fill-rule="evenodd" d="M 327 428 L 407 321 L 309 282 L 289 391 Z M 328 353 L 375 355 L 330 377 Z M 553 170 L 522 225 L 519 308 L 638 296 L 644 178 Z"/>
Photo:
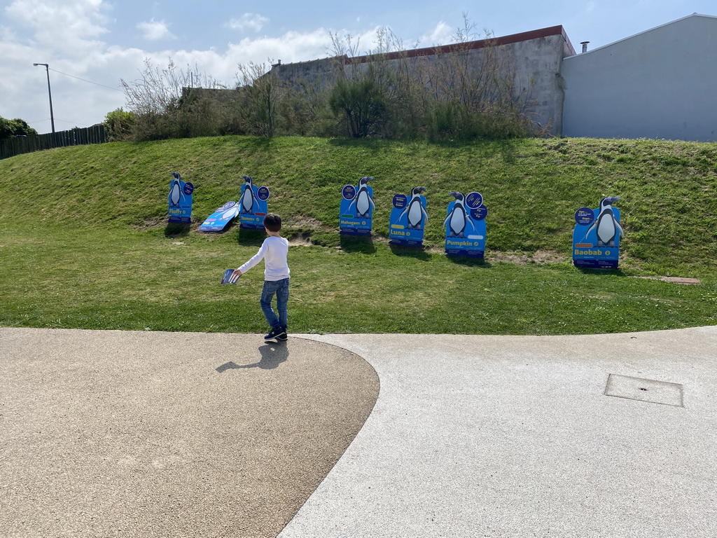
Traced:
<path fill-rule="evenodd" d="M 480 192 L 464 196 L 462 192 L 451 192 L 455 198 L 448 204 L 443 226 L 446 229 L 446 254 L 449 256 L 470 256 L 483 258 L 485 253 L 485 216 L 488 209 L 483 205 Z"/>

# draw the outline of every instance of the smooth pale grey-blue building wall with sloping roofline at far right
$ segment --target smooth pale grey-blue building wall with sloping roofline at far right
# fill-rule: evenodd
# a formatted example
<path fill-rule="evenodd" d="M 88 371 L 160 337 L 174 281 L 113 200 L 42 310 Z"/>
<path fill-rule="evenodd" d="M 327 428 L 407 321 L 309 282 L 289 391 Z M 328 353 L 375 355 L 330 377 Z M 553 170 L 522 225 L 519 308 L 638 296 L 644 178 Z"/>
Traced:
<path fill-rule="evenodd" d="M 717 141 L 717 17 L 565 58 L 563 136 Z"/>

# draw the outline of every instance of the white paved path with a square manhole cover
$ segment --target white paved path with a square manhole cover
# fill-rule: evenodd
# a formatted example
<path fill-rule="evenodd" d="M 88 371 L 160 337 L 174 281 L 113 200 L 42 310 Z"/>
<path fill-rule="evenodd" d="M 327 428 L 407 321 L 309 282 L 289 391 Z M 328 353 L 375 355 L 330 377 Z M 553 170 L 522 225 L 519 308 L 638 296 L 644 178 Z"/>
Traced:
<path fill-rule="evenodd" d="M 717 537 L 717 327 L 305 337 L 381 392 L 281 538 Z"/>

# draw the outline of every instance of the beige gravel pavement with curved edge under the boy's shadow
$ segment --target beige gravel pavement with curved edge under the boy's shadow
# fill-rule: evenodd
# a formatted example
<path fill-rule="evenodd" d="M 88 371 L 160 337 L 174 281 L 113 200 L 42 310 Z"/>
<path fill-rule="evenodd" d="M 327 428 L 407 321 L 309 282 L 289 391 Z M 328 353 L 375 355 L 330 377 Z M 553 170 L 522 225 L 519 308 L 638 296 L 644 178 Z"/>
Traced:
<path fill-rule="evenodd" d="M 0 329 L 0 536 L 275 537 L 376 402 L 336 346 Z"/>

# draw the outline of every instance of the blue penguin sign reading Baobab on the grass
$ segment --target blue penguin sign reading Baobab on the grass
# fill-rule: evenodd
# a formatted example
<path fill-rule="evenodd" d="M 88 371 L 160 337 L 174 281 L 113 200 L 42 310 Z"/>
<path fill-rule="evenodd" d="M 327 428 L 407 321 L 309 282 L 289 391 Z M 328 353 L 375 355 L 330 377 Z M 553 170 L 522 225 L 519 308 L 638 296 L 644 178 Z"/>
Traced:
<path fill-rule="evenodd" d="M 585 268 L 617 268 L 622 235 L 620 211 L 612 207 L 619 197 L 600 201 L 598 209 L 581 207 L 575 212 L 573 265 Z"/>

